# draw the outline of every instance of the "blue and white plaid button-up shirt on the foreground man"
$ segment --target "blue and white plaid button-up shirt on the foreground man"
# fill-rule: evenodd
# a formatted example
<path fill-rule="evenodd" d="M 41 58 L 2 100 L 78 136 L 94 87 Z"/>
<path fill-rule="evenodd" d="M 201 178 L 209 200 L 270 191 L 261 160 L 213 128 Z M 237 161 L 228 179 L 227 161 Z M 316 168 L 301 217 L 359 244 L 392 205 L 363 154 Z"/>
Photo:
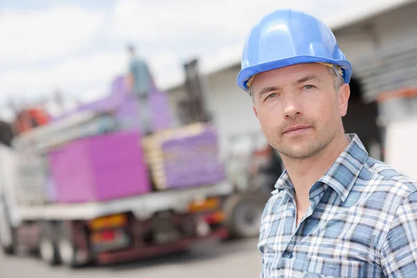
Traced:
<path fill-rule="evenodd" d="M 261 277 L 417 277 L 416 181 L 347 138 L 298 227 L 288 173 L 277 181 L 261 220 Z"/>

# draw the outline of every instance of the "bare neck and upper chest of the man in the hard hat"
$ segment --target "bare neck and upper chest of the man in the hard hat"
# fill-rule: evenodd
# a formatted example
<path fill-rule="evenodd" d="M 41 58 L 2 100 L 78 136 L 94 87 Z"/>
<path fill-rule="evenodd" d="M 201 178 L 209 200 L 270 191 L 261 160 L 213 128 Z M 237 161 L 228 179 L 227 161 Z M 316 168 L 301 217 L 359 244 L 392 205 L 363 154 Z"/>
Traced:
<path fill-rule="evenodd" d="M 349 141 L 340 133 L 322 152 L 306 159 L 293 159 L 283 156 L 282 160 L 288 176 L 295 188 L 296 200 L 299 203 L 309 202 L 309 191 L 313 183 L 332 167 L 334 161 L 347 147 Z"/>

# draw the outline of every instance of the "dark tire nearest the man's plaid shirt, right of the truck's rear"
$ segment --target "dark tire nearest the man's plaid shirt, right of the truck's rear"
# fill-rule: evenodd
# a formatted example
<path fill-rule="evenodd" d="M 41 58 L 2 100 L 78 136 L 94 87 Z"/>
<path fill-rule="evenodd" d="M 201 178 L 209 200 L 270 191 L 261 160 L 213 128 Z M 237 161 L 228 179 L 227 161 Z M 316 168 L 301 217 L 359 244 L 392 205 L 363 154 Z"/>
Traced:
<path fill-rule="evenodd" d="M 234 238 L 252 238 L 259 235 L 265 202 L 249 195 L 232 195 L 224 205 L 226 226 Z"/>

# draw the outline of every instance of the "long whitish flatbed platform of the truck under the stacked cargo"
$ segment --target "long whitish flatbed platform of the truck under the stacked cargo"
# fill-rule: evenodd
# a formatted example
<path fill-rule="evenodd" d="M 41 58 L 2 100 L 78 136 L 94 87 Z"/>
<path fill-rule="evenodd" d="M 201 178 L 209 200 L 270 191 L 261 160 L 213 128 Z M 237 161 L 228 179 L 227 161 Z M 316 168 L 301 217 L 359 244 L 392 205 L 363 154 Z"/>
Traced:
<path fill-rule="evenodd" d="M 137 218 L 150 218 L 157 211 L 172 209 L 185 212 L 188 204 L 199 198 L 228 195 L 227 181 L 208 186 L 172 189 L 106 202 L 19 206 L 20 220 L 90 220 L 113 213 L 131 211 Z"/>

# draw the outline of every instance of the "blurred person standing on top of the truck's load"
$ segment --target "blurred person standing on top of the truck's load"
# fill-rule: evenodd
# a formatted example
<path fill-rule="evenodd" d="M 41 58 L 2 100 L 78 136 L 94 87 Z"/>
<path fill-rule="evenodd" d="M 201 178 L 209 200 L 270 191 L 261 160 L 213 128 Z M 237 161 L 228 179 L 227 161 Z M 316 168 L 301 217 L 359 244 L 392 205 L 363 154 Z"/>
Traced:
<path fill-rule="evenodd" d="M 152 133 L 152 111 L 149 104 L 149 94 L 152 87 L 152 77 L 147 63 L 136 56 L 135 48 L 130 45 L 128 51 L 131 58 L 128 76 L 129 88 L 138 99 L 142 133 L 150 134 Z"/>

